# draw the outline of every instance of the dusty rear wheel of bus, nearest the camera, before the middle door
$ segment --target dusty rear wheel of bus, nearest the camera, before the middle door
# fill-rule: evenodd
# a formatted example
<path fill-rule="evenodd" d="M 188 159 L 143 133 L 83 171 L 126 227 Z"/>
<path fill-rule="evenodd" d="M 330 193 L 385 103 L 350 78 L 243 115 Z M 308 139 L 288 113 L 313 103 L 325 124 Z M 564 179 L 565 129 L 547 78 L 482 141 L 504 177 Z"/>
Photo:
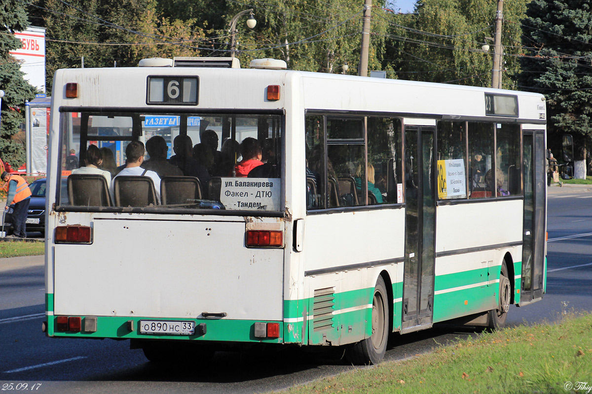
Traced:
<path fill-rule="evenodd" d="M 388 341 L 388 294 L 382 276 L 378 276 L 372 297 L 372 335 L 346 350 L 355 365 L 377 364 L 384 358 Z"/>

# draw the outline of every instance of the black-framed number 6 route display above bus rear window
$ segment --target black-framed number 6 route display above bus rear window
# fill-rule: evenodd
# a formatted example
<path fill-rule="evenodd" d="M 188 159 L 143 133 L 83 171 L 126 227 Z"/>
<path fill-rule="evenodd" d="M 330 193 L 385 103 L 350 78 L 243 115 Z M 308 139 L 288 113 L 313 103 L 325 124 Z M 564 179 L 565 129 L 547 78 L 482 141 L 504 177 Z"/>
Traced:
<path fill-rule="evenodd" d="M 146 104 L 197 105 L 198 77 L 149 76 Z"/>

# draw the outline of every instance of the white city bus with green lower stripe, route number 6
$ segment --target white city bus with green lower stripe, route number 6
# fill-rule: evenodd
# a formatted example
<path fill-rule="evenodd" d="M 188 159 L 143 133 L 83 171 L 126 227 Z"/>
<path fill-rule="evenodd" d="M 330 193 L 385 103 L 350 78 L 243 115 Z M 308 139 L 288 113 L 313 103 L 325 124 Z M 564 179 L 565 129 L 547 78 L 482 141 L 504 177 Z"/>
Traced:
<path fill-rule="evenodd" d="M 392 332 L 496 328 L 542 298 L 542 95 L 215 60 L 56 72 L 47 336 L 130 339 L 153 361 L 345 346 L 367 364 Z M 148 177 L 65 168 L 70 149 L 82 165 L 92 144 L 124 157 L 131 141 L 177 135 L 213 159 L 169 149 L 184 176 L 163 176 L 160 199 Z M 249 138 L 262 167 L 239 177 Z"/>

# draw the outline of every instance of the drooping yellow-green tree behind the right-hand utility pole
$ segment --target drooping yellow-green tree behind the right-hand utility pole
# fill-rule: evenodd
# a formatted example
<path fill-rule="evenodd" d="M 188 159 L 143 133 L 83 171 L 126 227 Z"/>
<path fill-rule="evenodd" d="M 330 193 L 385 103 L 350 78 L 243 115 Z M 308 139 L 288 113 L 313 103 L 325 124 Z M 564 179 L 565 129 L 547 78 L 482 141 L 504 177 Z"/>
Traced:
<path fill-rule="evenodd" d="M 520 19 L 530 0 L 504 2 L 505 89 L 516 89 L 520 64 Z M 492 58 L 481 51 L 491 44 L 496 1 L 420 0 L 414 14 L 395 15 L 388 58 L 403 79 L 491 86 Z"/>

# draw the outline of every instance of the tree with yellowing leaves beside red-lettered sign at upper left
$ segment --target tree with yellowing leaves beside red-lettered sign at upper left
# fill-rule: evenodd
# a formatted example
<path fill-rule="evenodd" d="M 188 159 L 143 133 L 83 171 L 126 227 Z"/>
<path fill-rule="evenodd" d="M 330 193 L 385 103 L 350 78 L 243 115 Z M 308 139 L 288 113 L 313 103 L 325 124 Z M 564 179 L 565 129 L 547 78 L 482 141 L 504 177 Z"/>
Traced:
<path fill-rule="evenodd" d="M 199 56 L 204 31 L 197 19 L 161 17 L 156 0 L 35 0 L 46 27 L 46 80 L 57 69 L 134 67 L 146 57 Z"/>

